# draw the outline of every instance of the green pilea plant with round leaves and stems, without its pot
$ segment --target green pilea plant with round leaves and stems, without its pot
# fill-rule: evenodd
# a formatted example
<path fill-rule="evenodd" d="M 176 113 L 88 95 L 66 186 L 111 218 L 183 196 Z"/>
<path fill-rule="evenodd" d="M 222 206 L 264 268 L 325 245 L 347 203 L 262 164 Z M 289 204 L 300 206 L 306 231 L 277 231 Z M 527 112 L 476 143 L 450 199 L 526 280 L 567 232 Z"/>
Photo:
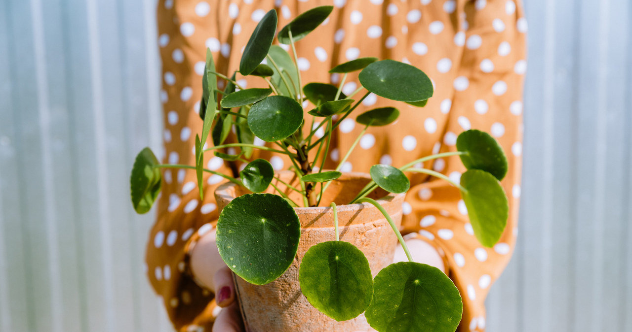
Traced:
<path fill-rule="evenodd" d="M 341 165 L 368 127 L 393 123 L 399 110 L 382 107 L 358 115 L 356 122 L 364 125 L 364 129 L 337 168 L 325 171 L 323 166 L 331 135 L 339 123 L 349 117 L 369 93 L 414 106 L 425 106 L 433 94 L 430 79 L 420 69 L 394 60 L 369 57 L 331 69 L 329 72 L 343 74 L 338 86 L 325 83 L 302 86 L 295 64 L 298 59 L 295 42 L 317 28 L 331 11 L 331 6 L 310 9 L 279 31 L 277 40 L 290 45 L 293 57 L 281 47 L 272 45 L 277 13 L 269 11 L 258 23 L 243 51 L 239 72 L 231 77 L 216 72 L 210 50 L 207 50 L 202 82 L 204 95 L 200 103 L 204 125 L 196 137 L 195 166 L 160 164 L 152 151 L 145 148 L 138 154 L 131 171 L 131 201 L 138 213 L 149 211 L 161 190 L 160 168 L 195 169 L 200 195 L 204 172 L 222 176 L 252 192 L 234 198 L 222 210 L 217 222 L 217 248 L 236 275 L 255 285 L 276 280 L 295 260 L 301 237 L 301 224 L 295 209 L 319 206 L 327 187 L 342 175 Z M 354 71 L 361 71 L 358 76 L 361 86 L 346 96 L 341 89 L 348 73 Z M 262 77 L 269 88 L 243 89 L 236 83 L 237 74 Z M 217 88 L 218 77 L 227 82 L 223 91 Z M 356 97 L 363 90 L 364 94 Z M 304 100 L 315 105 L 307 113 L 301 106 Z M 315 119 L 320 124 L 307 127 L 308 120 L 314 123 Z M 226 143 L 233 127 L 237 142 Z M 324 135 L 315 134 L 319 129 Z M 204 149 L 209 135 L 214 146 Z M 320 138 L 316 139 L 317 136 Z M 254 144 L 255 137 L 271 144 Z M 238 152 L 220 152 L 229 147 Z M 483 246 L 493 246 L 501 237 L 508 214 L 507 198 L 499 183 L 507 171 L 506 157 L 495 139 L 478 130 L 461 133 L 456 147 L 456 152 L 426 156 L 400 168 L 384 164 L 372 166 L 372 181 L 347 202 L 370 203 L 379 209 L 408 256 L 408 262 L 389 265 L 375 278 L 372 278 L 363 252 L 351 243 L 339 241 L 337 207 L 336 203 L 331 203 L 335 241 L 332 238 L 332 241 L 312 246 L 300 264 L 301 292 L 312 306 L 336 321 L 353 319 L 365 312 L 370 326 L 378 331 L 454 331 L 457 328 L 463 303 L 454 283 L 439 269 L 413 262 L 391 216 L 380 203 L 367 197 L 377 187 L 391 193 L 408 191 L 410 182 L 405 172 L 442 178 L 459 188 L 478 241 Z M 289 157 L 290 169 L 300 180 L 300 188 L 282 182 L 293 192 L 300 193 L 300 201 L 291 200 L 274 185 L 274 179 L 281 179 L 268 161 L 249 160 L 253 149 Z M 209 151 L 226 161 L 247 164 L 238 178 L 204 169 L 203 156 Z M 313 151 L 315 154 L 310 154 Z M 416 166 L 447 156 L 460 156 L 468 169 L 460 183 Z M 270 185 L 278 195 L 262 193 Z"/>

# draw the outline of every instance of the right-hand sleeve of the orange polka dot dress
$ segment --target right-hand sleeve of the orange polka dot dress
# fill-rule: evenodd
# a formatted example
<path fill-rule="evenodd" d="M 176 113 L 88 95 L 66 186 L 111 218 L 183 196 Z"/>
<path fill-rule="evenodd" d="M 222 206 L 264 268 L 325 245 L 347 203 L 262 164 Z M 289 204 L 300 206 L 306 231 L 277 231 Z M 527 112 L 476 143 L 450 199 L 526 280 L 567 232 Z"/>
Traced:
<path fill-rule="evenodd" d="M 526 66 L 526 21 L 518 5 L 513 1 L 488 1 L 483 4 L 485 10 L 476 10 L 480 4 L 474 1 L 466 5 L 466 46 L 438 151 L 456 151 L 456 137 L 468 129 L 489 132 L 499 141 L 509 161 L 509 171 L 501 181 L 509 198 L 509 219 L 501 239 L 493 248 L 478 243 L 459 190 L 444 180 L 413 176 L 404 203 L 404 231 L 417 232 L 437 248 L 447 261 L 449 277 L 461 292 L 464 312 L 458 331 L 485 330 L 485 297 L 509 262 L 518 233 L 521 100 Z M 485 17 L 487 13 L 500 18 L 491 20 Z M 430 161 L 424 167 L 434 168 L 456 182 L 465 171 L 458 156 Z"/>

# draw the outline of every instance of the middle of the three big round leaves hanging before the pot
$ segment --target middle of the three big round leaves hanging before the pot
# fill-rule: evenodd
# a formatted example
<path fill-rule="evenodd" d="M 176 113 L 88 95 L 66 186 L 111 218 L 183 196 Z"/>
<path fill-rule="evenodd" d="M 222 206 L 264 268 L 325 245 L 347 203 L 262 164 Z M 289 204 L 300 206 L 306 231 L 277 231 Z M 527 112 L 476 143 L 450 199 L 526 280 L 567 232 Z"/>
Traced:
<path fill-rule="evenodd" d="M 336 321 L 362 314 L 373 296 L 367 258 L 360 249 L 344 241 L 312 246 L 303 256 L 298 281 L 307 301 Z"/>

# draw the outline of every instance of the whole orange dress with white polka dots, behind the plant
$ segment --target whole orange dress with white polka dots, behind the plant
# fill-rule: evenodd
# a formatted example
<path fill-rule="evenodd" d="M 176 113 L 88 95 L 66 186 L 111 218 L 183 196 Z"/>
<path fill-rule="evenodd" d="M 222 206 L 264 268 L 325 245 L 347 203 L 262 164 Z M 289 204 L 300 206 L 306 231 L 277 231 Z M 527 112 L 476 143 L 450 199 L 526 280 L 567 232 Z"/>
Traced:
<path fill-rule="evenodd" d="M 217 71 L 231 75 L 238 69 L 250 33 L 269 9 L 277 10 L 280 28 L 297 14 L 325 4 L 334 5 L 331 16 L 297 43 L 303 84 L 337 85 L 341 76 L 327 73 L 336 64 L 378 57 L 413 64 L 435 85 L 425 108 L 370 94 L 356 114 L 396 106 L 401 116 L 392 125 L 370 127 L 342 171 L 366 172 L 379 163 L 402 166 L 429 154 L 456 151 L 456 137 L 468 129 L 489 132 L 506 151 L 509 171 L 502 185 L 509 197 L 509 220 L 494 248 L 478 243 L 458 189 L 446 181 L 411 175 L 403 206 L 404 232 L 437 249 L 444 257 L 447 275 L 461 292 L 465 307 L 458 331 L 484 331 L 485 296 L 509 261 L 518 232 L 527 30 L 520 0 L 160 0 L 163 161 L 195 163 L 195 134 L 202 130 L 197 111 L 207 47 L 216 59 Z M 257 77 L 238 75 L 237 79 L 247 88 L 265 86 Z M 223 81 L 218 84 L 223 88 Z M 350 74 L 343 93 L 358 87 L 357 73 Z M 344 120 L 334 132 L 325 167 L 335 168 L 362 131 L 353 118 Z M 255 152 L 254 157 L 269 159 L 277 170 L 289 164 L 284 156 L 268 152 Z M 204 162 L 209 169 L 231 175 L 241 166 L 224 163 L 212 154 L 206 154 Z M 458 157 L 423 166 L 454 181 L 465 171 Z M 164 169 L 163 175 L 157 221 L 147 244 L 149 280 L 178 331 L 210 331 L 217 314 L 213 294 L 193 280 L 186 253 L 195 239 L 214 227 L 217 206 L 213 191 L 222 178 L 205 175 L 201 201 L 195 171 Z"/>

